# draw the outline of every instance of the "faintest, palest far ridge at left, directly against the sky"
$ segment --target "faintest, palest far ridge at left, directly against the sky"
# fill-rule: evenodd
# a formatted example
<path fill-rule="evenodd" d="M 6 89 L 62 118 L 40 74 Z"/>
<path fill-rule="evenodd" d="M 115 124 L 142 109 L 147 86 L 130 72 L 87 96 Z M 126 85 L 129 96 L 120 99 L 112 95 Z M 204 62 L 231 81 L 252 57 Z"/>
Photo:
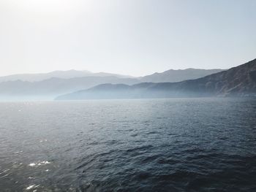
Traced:
<path fill-rule="evenodd" d="M 92 73 L 89 71 L 69 70 L 69 71 L 54 71 L 54 72 L 39 73 L 39 74 L 12 74 L 9 76 L 0 77 L 0 82 L 15 81 L 15 80 L 36 82 L 36 81 L 47 80 L 53 77 L 61 78 L 61 79 L 70 79 L 75 77 L 132 78 L 132 76 L 121 75 L 121 74 L 112 74 L 112 73 L 105 73 L 105 72 Z"/>

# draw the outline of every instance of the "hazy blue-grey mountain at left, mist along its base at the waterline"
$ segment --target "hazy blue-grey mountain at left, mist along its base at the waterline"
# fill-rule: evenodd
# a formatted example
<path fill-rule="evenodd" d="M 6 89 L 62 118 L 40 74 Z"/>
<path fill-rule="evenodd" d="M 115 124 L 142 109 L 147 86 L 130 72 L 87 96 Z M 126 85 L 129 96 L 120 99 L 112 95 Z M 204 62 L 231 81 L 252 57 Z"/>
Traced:
<path fill-rule="evenodd" d="M 131 78 L 107 77 L 75 77 L 61 79 L 52 77 L 48 80 L 29 82 L 22 80 L 0 82 L 1 100 L 54 99 L 56 96 L 91 88 L 102 83 L 124 83 L 132 85 L 139 80 Z"/>

